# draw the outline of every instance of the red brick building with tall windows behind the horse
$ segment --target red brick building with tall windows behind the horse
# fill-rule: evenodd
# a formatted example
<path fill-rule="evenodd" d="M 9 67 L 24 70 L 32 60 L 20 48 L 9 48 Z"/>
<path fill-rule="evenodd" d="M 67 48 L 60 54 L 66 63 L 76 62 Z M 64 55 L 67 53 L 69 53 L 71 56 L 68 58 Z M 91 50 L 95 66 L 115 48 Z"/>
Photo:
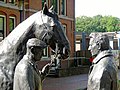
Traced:
<path fill-rule="evenodd" d="M 72 57 L 74 53 L 75 0 L 0 0 L 0 40 L 4 39 L 20 22 L 41 10 L 45 1 L 49 8 L 53 5 L 65 28 L 65 33 L 70 41 Z M 49 61 L 48 52 L 49 48 L 44 50 L 43 63 Z"/>

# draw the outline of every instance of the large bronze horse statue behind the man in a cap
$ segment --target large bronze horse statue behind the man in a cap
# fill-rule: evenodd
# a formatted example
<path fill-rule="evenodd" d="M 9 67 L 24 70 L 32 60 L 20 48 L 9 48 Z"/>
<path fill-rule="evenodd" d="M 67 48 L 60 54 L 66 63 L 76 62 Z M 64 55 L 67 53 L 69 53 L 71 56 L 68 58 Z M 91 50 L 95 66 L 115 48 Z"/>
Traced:
<path fill-rule="evenodd" d="M 63 30 L 58 15 L 46 4 L 43 10 L 20 23 L 0 43 L 0 90 L 13 89 L 15 66 L 25 54 L 26 42 L 30 38 L 44 41 L 63 59 L 69 57 L 70 44 Z"/>

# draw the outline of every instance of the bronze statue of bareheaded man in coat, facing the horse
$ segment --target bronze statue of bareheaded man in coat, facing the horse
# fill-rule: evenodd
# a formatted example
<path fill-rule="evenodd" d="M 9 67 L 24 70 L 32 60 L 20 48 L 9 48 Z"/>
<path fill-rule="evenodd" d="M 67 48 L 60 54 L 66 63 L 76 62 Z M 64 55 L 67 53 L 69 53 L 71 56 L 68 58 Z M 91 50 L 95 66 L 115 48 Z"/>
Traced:
<path fill-rule="evenodd" d="M 87 90 L 118 90 L 117 66 L 109 46 L 109 38 L 103 33 L 91 33 L 88 50 L 94 60 L 90 67 Z"/>

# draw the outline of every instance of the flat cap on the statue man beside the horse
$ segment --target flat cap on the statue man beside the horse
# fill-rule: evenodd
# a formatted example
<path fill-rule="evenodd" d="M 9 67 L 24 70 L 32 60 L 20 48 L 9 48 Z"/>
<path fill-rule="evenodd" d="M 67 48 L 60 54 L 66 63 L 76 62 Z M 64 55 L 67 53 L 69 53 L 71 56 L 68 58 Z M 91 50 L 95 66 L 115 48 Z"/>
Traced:
<path fill-rule="evenodd" d="M 42 40 L 39 40 L 37 38 L 31 38 L 27 41 L 27 47 L 40 47 L 40 48 L 46 48 L 47 45 Z"/>

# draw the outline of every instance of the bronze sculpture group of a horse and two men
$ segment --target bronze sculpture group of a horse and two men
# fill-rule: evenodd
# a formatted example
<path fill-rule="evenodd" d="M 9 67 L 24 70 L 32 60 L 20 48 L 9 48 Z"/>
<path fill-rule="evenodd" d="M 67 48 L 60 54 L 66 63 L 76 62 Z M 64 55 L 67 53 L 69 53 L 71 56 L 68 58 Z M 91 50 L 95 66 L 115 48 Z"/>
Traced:
<path fill-rule="evenodd" d="M 70 44 L 58 15 L 48 9 L 33 14 L 0 43 L 0 90 L 41 90 L 51 63 L 39 71 L 35 62 L 49 46 L 62 59 L 69 57 Z M 117 67 L 102 33 L 90 34 L 89 50 L 95 59 L 89 71 L 87 90 L 117 90 Z M 14 85 L 13 85 L 14 84 Z"/>

